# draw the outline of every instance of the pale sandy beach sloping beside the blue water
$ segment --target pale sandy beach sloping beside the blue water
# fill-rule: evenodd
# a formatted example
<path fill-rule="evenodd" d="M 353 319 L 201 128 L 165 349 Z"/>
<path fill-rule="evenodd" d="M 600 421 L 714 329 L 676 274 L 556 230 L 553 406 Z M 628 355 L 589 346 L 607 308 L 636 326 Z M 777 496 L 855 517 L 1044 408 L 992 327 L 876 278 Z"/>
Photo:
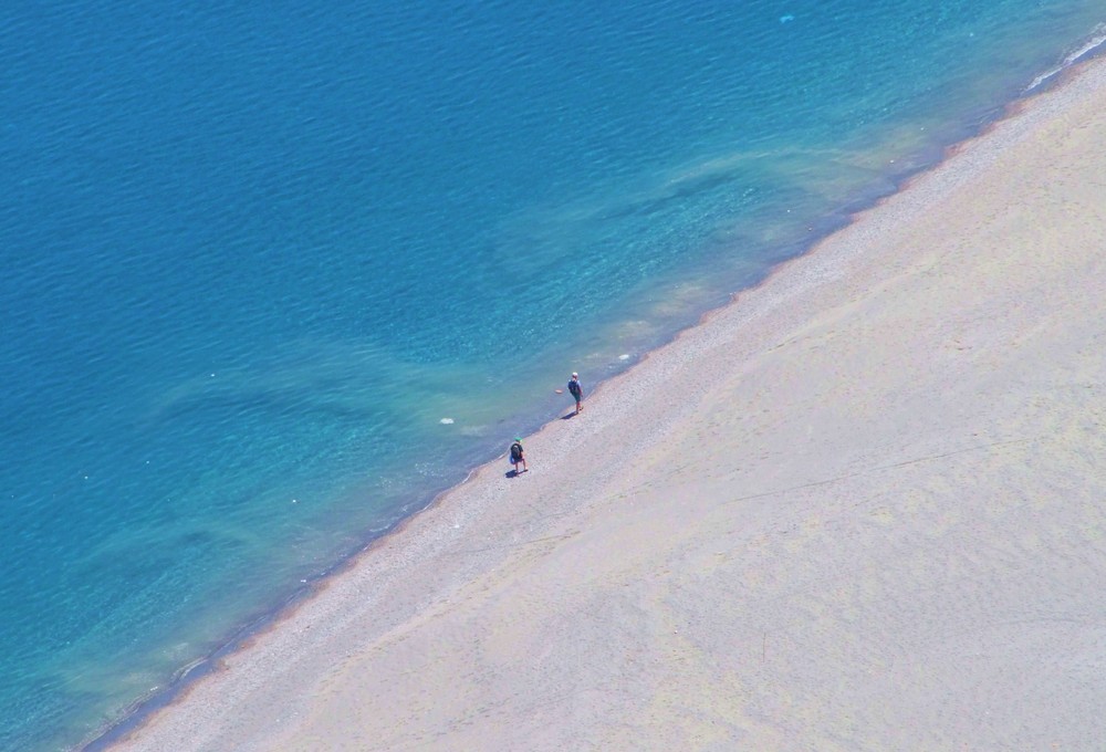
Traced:
<path fill-rule="evenodd" d="M 1104 144 L 1094 62 L 116 748 L 1102 749 Z"/>

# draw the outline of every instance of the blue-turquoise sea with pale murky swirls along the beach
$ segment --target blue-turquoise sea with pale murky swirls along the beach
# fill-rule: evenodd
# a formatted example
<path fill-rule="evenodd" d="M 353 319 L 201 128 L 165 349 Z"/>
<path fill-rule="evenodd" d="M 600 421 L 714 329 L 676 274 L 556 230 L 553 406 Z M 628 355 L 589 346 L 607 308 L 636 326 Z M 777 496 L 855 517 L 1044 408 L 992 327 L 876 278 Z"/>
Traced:
<path fill-rule="evenodd" d="M 102 745 L 565 410 L 571 372 L 633 367 L 1104 22 L 3 3 L 0 749 Z"/>

